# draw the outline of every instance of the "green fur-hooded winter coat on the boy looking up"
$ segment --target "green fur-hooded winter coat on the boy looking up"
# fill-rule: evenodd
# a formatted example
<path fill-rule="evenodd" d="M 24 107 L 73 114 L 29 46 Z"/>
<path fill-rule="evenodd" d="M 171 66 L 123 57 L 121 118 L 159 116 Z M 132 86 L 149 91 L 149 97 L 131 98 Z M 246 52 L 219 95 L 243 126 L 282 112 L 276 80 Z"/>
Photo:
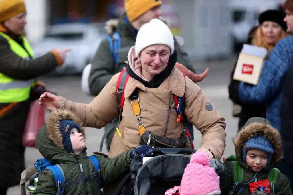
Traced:
<path fill-rule="evenodd" d="M 39 130 L 35 146 L 50 163 L 58 164 L 62 168 L 65 175 L 65 182 L 70 182 L 95 172 L 95 169 L 86 155 L 86 149 L 80 154 L 67 153 L 64 150 L 62 134 L 59 131 L 60 120 L 73 120 L 80 127 L 82 126 L 81 121 L 69 111 L 52 112 L 47 120 L 47 128 L 44 126 Z M 84 136 L 84 128 L 81 128 L 81 131 Z M 117 178 L 124 177 L 129 173 L 130 152 L 131 150 L 127 150 L 113 159 L 93 155 L 100 162 L 100 180 L 102 186 L 113 182 Z M 80 165 L 83 170 L 81 170 Z M 50 170 L 43 170 L 39 174 L 38 179 L 38 187 L 33 194 L 56 194 L 55 180 Z M 102 194 L 100 189 L 98 180 L 94 179 L 66 188 L 64 195 L 99 195 Z"/>

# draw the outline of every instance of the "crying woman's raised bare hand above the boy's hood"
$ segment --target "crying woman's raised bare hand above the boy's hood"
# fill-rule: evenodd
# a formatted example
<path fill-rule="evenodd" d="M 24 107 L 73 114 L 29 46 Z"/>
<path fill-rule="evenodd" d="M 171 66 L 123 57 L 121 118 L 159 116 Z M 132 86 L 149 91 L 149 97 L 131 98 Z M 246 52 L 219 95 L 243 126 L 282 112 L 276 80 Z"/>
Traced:
<path fill-rule="evenodd" d="M 40 96 L 39 104 L 50 111 L 54 111 L 61 107 L 62 102 L 56 95 L 45 92 Z"/>

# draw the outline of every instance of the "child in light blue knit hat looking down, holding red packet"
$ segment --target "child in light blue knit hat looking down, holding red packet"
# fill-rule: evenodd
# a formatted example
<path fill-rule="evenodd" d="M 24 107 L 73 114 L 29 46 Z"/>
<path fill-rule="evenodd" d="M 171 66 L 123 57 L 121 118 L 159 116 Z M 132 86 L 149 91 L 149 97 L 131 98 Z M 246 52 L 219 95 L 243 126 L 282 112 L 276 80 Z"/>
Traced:
<path fill-rule="evenodd" d="M 248 119 L 234 144 L 236 155 L 230 156 L 224 164 L 210 159 L 210 166 L 220 176 L 222 194 L 251 195 L 253 183 L 268 180 L 268 186 L 260 186 L 253 194 L 292 195 L 288 178 L 272 168 L 283 156 L 282 139 L 267 119 Z"/>

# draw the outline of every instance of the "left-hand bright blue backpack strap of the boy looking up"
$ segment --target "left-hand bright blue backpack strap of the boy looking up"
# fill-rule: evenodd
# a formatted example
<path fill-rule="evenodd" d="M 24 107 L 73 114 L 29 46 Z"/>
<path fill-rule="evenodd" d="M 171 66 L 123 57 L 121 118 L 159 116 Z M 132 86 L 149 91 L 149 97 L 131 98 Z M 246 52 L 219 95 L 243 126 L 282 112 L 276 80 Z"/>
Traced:
<path fill-rule="evenodd" d="M 59 165 L 48 166 L 46 168 L 49 169 L 54 175 L 56 183 L 56 195 L 63 195 L 65 190 L 65 175 L 62 168 Z"/>

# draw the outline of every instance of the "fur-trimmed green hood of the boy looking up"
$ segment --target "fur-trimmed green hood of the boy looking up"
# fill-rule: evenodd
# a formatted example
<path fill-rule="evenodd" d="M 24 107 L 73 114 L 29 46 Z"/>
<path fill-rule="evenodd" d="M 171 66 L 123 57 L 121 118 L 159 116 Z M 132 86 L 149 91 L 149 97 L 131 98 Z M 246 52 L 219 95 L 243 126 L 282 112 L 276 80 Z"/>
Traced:
<path fill-rule="evenodd" d="M 67 153 L 62 144 L 62 133 L 59 130 L 59 121 L 72 120 L 76 122 L 83 136 L 85 136 L 84 127 L 77 116 L 67 110 L 56 110 L 51 112 L 47 118 L 47 123 L 37 133 L 35 147 L 40 151 L 42 156 L 51 163 L 61 163 L 64 161 L 76 161 L 72 158 L 74 153 Z M 86 157 L 86 150 L 79 156 Z"/>

